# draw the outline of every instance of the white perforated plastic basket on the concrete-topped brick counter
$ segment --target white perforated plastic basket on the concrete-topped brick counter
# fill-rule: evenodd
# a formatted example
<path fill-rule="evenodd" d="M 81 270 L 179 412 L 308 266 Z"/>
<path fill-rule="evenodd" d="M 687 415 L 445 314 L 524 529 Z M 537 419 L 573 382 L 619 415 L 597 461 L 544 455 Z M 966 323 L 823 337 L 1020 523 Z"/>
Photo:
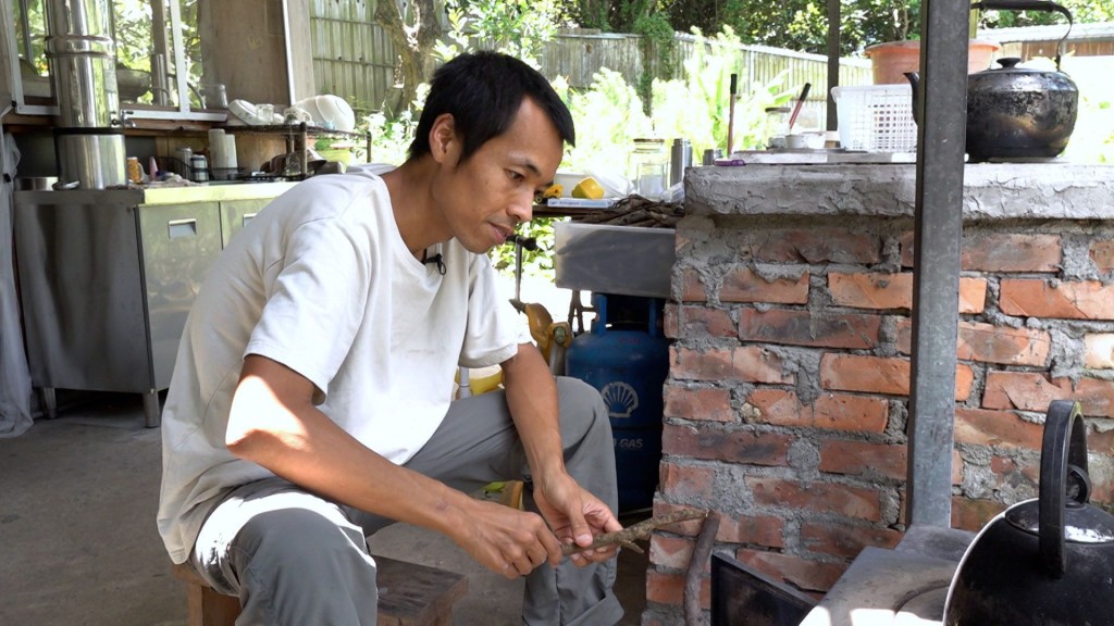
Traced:
<path fill-rule="evenodd" d="M 840 145 L 868 153 L 911 153 L 917 149 L 909 85 L 832 87 L 839 117 Z"/>

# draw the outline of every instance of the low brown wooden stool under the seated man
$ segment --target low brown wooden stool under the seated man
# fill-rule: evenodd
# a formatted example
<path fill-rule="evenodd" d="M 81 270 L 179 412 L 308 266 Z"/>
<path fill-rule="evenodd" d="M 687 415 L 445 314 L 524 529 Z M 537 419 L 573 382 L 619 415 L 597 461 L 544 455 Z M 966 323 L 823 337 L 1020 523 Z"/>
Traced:
<path fill-rule="evenodd" d="M 375 557 L 379 566 L 379 626 L 451 626 L 452 605 L 468 593 L 461 574 Z M 240 598 L 219 594 L 188 565 L 175 565 L 174 577 L 186 581 L 188 626 L 233 626 Z"/>

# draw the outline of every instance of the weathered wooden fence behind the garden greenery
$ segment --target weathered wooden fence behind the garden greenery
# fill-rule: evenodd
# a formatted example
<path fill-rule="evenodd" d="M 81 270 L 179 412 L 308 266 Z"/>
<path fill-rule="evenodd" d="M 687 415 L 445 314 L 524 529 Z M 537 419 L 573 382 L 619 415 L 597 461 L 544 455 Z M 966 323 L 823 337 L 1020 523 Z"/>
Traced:
<path fill-rule="evenodd" d="M 397 53 L 383 29 L 372 21 L 372 4 L 361 0 L 312 0 L 311 11 L 317 92 L 340 96 L 358 110 L 378 109 L 392 88 Z M 565 77 L 570 87 L 586 89 L 600 68 L 608 68 L 636 85 L 645 63 L 641 41 L 636 35 L 563 32 L 546 45 L 541 72 L 549 78 Z M 658 72 L 658 78 L 680 78 L 684 60 L 702 45 L 702 40 L 680 33 L 676 42 L 675 76 Z M 703 45 L 711 49 L 717 43 L 704 40 Z M 821 86 L 828 84 L 827 57 L 762 46 L 739 46 L 733 52 L 741 88 L 768 85 L 788 71 L 788 88 L 812 84 L 808 106 L 823 119 L 827 89 Z M 840 60 L 841 85 L 869 85 L 870 80 L 868 60 Z"/>

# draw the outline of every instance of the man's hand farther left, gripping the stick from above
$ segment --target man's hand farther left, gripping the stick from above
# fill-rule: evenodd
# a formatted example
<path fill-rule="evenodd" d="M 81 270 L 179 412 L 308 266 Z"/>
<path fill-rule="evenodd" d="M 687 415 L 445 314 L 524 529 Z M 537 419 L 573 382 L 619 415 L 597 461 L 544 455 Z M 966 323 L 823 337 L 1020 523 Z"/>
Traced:
<path fill-rule="evenodd" d="M 507 578 L 517 578 L 546 560 L 553 566 L 560 563 L 560 542 L 541 516 L 483 500 L 473 502 L 468 522 L 451 535 L 457 545 L 485 567 Z"/>

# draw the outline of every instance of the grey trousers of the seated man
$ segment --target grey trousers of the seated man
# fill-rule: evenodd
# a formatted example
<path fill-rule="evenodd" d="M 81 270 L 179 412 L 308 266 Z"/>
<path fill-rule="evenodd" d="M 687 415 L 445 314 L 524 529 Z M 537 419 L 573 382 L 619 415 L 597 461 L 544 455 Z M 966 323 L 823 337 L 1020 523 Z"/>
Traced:
<path fill-rule="evenodd" d="M 565 463 L 585 489 L 617 509 L 610 423 L 599 393 L 557 379 Z M 526 453 L 494 391 L 453 402 L 405 467 L 472 492 L 499 480 L 530 481 Z M 526 489 L 527 508 L 537 510 Z M 213 587 L 240 597 L 238 626 L 374 625 L 375 561 L 367 536 L 393 524 L 271 478 L 233 489 L 209 512 L 192 555 Z M 623 616 L 612 593 L 615 559 L 543 564 L 526 577 L 522 623 L 609 625 Z"/>

